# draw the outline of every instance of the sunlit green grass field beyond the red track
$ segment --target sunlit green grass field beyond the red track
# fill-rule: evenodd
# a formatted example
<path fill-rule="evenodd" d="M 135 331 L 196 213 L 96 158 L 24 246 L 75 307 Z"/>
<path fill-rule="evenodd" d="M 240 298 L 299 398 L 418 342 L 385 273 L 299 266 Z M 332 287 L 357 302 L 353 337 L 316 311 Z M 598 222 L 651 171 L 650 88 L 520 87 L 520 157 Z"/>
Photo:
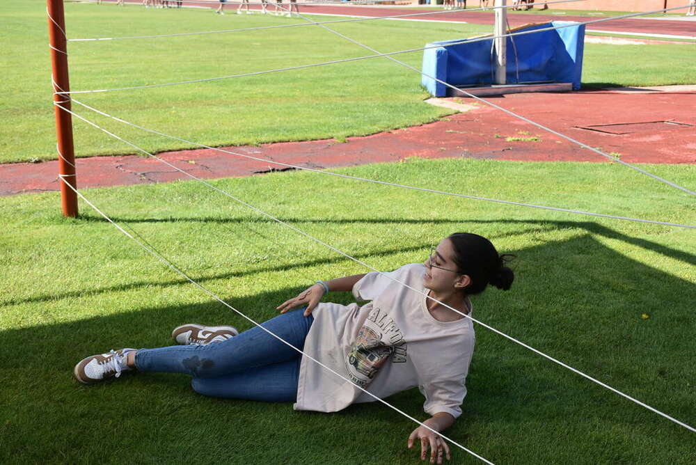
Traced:
<path fill-rule="evenodd" d="M 132 36 L 292 24 L 301 19 L 214 15 L 211 10 L 155 10 L 91 3 L 65 5 L 70 38 Z M 335 19 L 317 17 L 313 19 Z M 55 159 L 55 129 L 43 0 L 5 0 L 0 162 Z M 337 24 L 349 37 L 383 52 L 463 38 L 490 26 L 395 21 Z M 139 86 L 240 74 L 340 58 L 365 49 L 316 27 L 185 38 L 70 42 L 72 90 Z M 693 84 L 693 45 L 587 45 L 587 87 Z M 420 68 L 422 53 L 399 56 Z M 145 127 L 208 145 L 259 144 L 373 134 L 436 120 L 449 110 L 423 104 L 420 77 L 386 59 L 267 74 L 212 83 L 81 95 L 79 100 Z M 79 109 L 76 108 L 76 111 Z M 95 118 L 113 127 L 113 122 Z M 182 143 L 119 129 L 153 152 Z M 98 129 L 74 123 L 77 156 L 132 150 Z"/>

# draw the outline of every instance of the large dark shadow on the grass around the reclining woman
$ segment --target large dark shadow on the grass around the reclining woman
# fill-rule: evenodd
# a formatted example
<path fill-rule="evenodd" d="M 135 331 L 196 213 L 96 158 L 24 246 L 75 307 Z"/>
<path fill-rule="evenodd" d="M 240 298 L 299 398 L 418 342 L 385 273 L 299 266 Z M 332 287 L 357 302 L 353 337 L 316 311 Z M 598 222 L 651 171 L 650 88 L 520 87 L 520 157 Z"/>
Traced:
<path fill-rule="evenodd" d="M 588 232 L 636 240 L 593 223 L 548 224 L 584 224 Z M 638 244 L 679 255 L 651 242 Z M 384 253 L 397 251 L 402 249 Z M 658 409 L 686 420 L 696 416 L 688 387 L 696 377 L 688 361 L 696 323 L 693 283 L 626 258 L 590 234 L 511 252 L 519 256 L 512 291 L 489 290 L 478 297 L 475 317 Z M 264 292 L 231 304 L 264 321 L 298 291 Z M 351 299 L 348 293 L 331 294 L 332 300 L 336 297 L 339 303 Z M 641 319 L 640 313 L 649 313 L 650 319 Z M 241 461 L 249 455 L 239 454 L 251 448 L 256 463 L 306 463 L 311 457 L 331 457 L 326 463 L 417 462 L 417 452 L 404 446 L 413 425 L 380 404 L 358 404 L 326 416 L 294 413 L 288 404 L 211 400 L 192 393 L 184 375 L 132 375 L 97 386 L 80 386 L 71 377 L 74 363 L 86 355 L 112 347 L 167 345 L 171 329 L 185 322 L 249 326 L 211 300 L 2 331 L 0 381 L 9 397 L 3 401 L 5 452 L 0 457 L 118 462 L 100 441 L 84 439 L 116 433 L 118 441 L 110 447 L 122 445 L 135 454 L 135 462 L 149 463 L 152 457 L 180 462 L 180 454 L 209 457 L 222 440 L 229 441 L 226 450 L 215 456 L 234 452 Z M 570 463 L 569 448 L 585 463 L 644 462 L 640 459 L 655 443 L 660 455 L 654 463 L 678 463 L 687 452 L 686 433 L 665 427 L 663 418 L 481 327 L 468 391 L 465 420 L 449 433 L 496 462 Z M 421 420 L 427 418 L 422 401 L 416 389 L 390 398 Z M 549 446 L 530 450 L 526 431 L 534 432 L 535 443 Z M 603 447 L 596 447 L 596 434 L 588 431 L 601 434 Z M 302 440 L 303 435 L 309 439 Z M 361 448 L 354 447 L 356 441 Z M 333 457 L 336 450 L 341 457 Z M 369 457 L 364 450 L 371 451 Z M 277 457 L 278 451 L 287 457 Z"/>

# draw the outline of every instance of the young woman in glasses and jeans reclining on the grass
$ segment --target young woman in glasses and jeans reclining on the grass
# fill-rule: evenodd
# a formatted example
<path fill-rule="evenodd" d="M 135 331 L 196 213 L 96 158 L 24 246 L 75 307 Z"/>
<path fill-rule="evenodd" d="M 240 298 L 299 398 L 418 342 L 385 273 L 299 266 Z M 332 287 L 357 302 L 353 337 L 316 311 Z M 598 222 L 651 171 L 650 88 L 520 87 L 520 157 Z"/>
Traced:
<path fill-rule="evenodd" d="M 239 334 L 232 326 L 198 324 L 173 331 L 180 345 L 89 356 L 75 365 L 74 375 L 94 383 L 129 370 L 184 373 L 203 395 L 294 402 L 296 410 L 323 412 L 374 401 L 356 386 L 379 398 L 418 386 L 425 412 L 432 415 L 425 425 L 443 431 L 461 414 L 474 349 L 471 320 L 448 306 L 470 315 L 470 295 L 489 284 L 509 289 L 514 274 L 505 267 L 508 257 L 498 255 L 484 237 L 453 234 L 432 249 L 425 263 L 317 281 L 278 306 L 281 315 L 262 324 L 346 379 L 259 327 Z M 319 303 L 329 291 L 352 291 L 368 302 Z M 301 306 L 303 311 L 288 311 Z M 443 454 L 450 459 L 450 448 L 438 434 L 421 426 L 409 436 L 408 447 L 417 440 L 422 459 L 428 448 L 430 462 L 442 463 Z"/>

